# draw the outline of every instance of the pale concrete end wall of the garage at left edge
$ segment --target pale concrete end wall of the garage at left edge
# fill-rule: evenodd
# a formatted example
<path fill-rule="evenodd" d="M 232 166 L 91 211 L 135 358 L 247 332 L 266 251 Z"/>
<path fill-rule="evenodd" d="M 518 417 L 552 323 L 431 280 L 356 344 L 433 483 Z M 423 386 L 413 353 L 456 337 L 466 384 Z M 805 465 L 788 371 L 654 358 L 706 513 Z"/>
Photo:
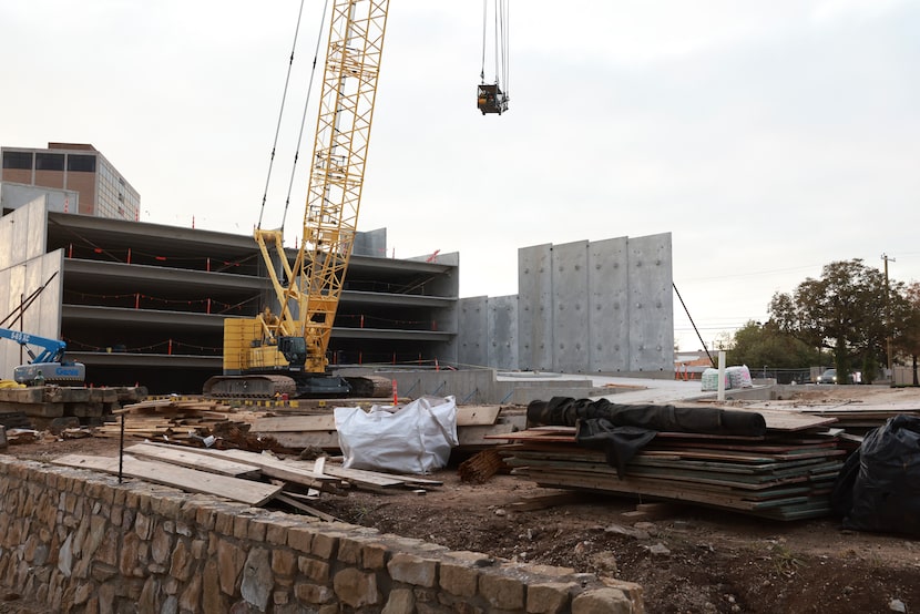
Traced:
<path fill-rule="evenodd" d="M 48 216 L 41 196 L 0 217 L 0 326 L 58 339 L 61 335 L 63 253 L 45 254 Z M 39 291 L 28 306 L 23 304 Z M 23 307 L 28 307 L 23 309 Z M 41 348 L 29 346 L 38 354 Z M 31 359 L 19 344 L 0 339 L 0 379 Z"/>

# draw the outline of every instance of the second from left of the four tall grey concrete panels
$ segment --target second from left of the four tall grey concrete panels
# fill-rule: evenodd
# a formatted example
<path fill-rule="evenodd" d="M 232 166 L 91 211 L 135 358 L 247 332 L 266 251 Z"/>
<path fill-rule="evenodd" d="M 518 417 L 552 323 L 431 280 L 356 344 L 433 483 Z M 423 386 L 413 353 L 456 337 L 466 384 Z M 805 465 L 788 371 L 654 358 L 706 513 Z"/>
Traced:
<path fill-rule="evenodd" d="M 584 371 L 590 339 L 587 242 L 556 245 L 552 254 L 553 370 Z"/>

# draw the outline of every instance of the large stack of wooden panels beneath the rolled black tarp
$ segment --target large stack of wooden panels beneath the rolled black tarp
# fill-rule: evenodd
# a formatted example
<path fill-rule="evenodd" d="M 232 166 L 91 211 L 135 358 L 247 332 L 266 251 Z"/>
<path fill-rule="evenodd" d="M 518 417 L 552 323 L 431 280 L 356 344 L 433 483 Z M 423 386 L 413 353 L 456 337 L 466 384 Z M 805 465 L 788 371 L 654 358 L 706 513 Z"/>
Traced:
<path fill-rule="evenodd" d="M 834 419 L 760 413 L 764 437 L 660 432 L 622 478 L 604 451 L 575 443 L 572 427 L 513 433 L 502 454 L 515 474 L 541 487 L 685 501 L 776 520 L 830 513 L 846 451 L 818 431 Z"/>

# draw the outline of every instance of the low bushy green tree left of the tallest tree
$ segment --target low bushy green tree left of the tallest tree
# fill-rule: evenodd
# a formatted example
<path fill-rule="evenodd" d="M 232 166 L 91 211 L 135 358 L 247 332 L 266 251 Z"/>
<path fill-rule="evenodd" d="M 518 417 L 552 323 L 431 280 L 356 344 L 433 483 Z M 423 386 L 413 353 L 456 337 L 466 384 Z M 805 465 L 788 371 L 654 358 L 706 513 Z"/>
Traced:
<path fill-rule="evenodd" d="M 775 321 L 748 321 L 735 332 L 729 365 L 796 369 L 820 364 L 820 351 L 784 331 Z"/>

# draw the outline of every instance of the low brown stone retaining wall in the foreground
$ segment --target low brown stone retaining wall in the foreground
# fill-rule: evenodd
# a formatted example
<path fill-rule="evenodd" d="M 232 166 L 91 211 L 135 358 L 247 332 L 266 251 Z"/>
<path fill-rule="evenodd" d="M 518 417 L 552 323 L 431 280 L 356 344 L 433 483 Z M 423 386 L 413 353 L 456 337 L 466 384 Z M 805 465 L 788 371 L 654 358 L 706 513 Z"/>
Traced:
<path fill-rule="evenodd" d="M 636 584 L 0 457 L 0 584 L 74 613 L 641 613 Z"/>

